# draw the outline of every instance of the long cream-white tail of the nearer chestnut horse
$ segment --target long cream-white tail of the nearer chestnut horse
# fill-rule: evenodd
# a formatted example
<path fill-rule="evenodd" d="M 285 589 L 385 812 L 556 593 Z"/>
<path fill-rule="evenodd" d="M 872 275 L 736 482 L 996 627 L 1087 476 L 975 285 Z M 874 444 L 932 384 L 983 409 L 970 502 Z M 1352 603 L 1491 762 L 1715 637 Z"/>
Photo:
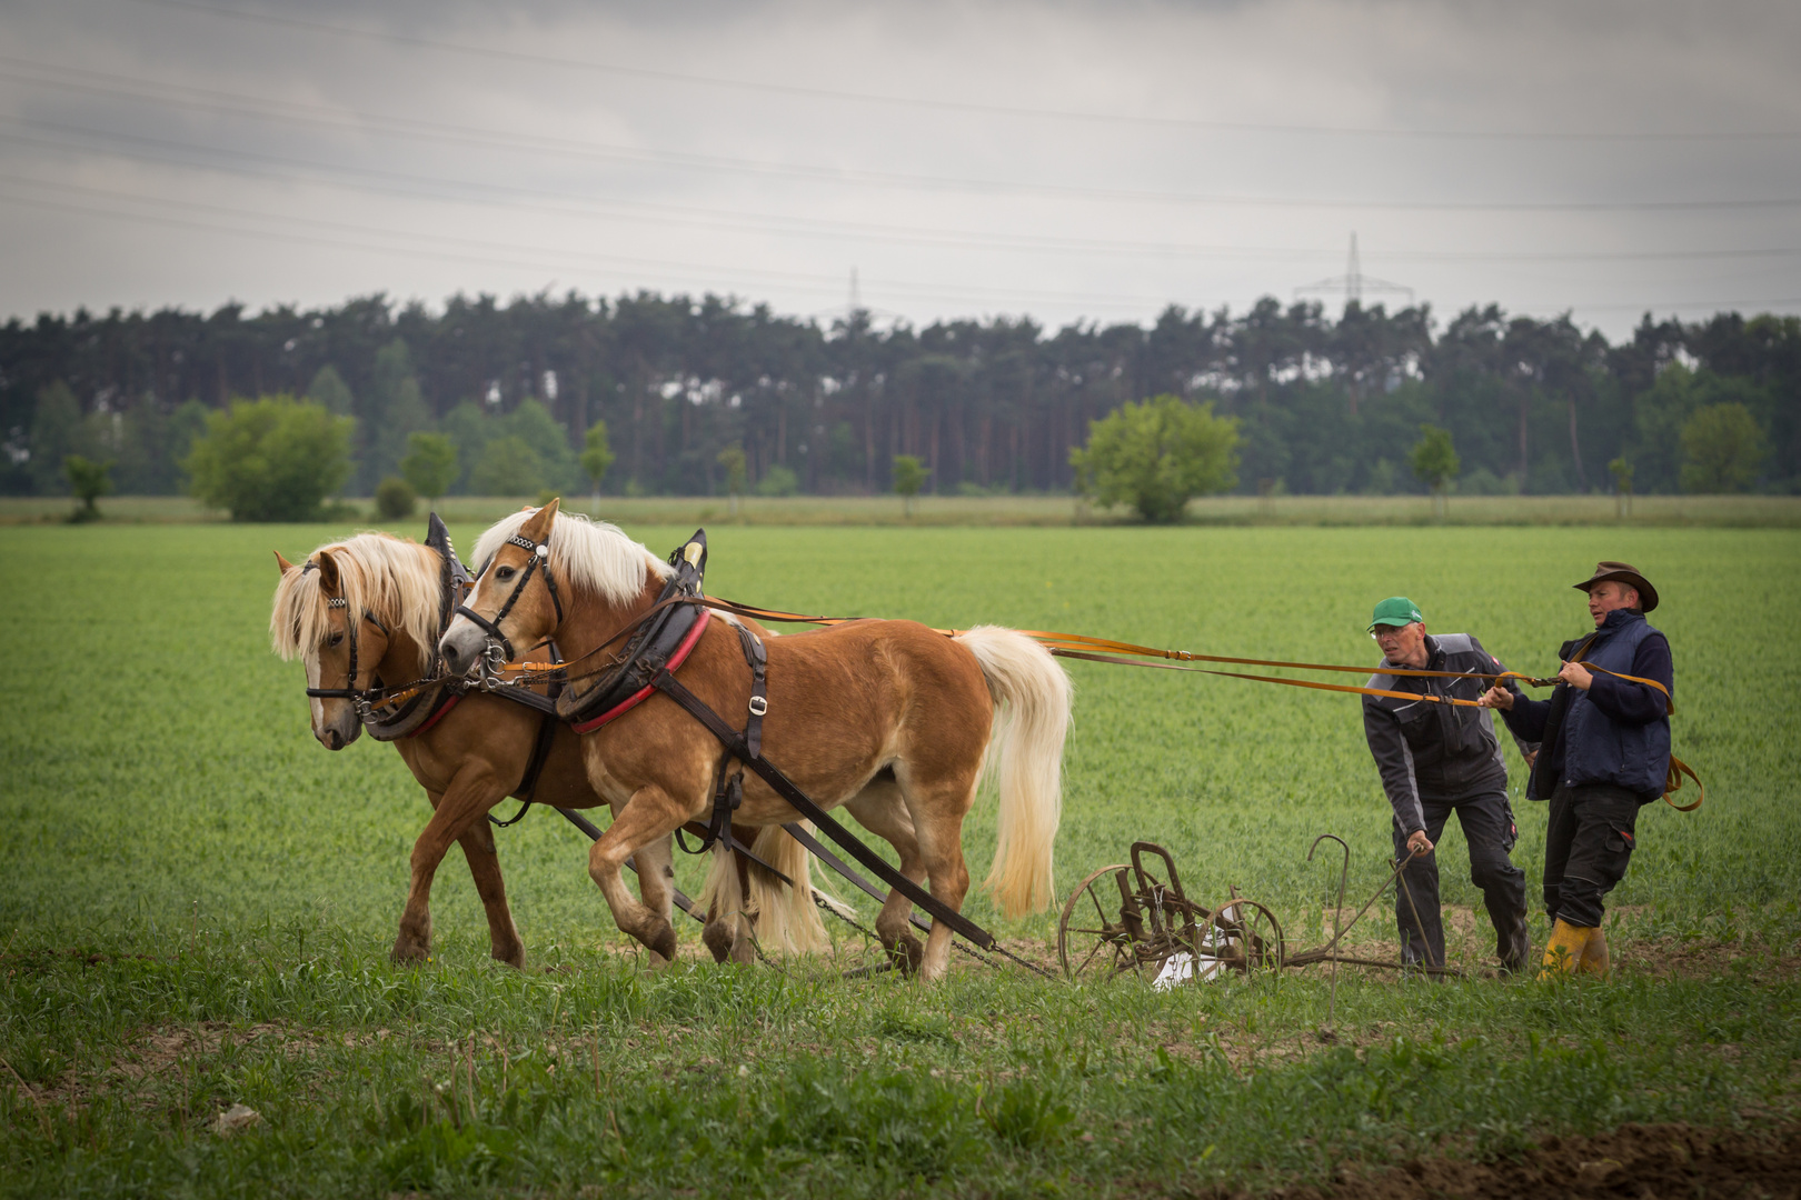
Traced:
<path fill-rule="evenodd" d="M 1063 739 L 1070 676 L 1018 630 L 978 624 L 956 640 L 982 664 L 994 698 L 989 761 L 1000 783 L 994 865 L 983 882 L 1009 918 L 1050 905 L 1052 847 L 1063 819 Z"/>

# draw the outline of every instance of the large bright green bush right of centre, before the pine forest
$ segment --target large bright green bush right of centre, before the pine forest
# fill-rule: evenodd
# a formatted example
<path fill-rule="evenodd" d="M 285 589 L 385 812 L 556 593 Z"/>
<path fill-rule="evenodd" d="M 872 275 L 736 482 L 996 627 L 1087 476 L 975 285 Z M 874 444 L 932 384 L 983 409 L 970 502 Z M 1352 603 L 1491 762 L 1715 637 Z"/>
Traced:
<path fill-rule="evenodd" d="M 1176 396 L 1120 405 L 1088 423 L 1088 444 L 1070 452 L 1075 493 L 1129 504 L 1147 522 L 1181 520 L 1192 497 L 1237 482 L 1237 421 Z"/>

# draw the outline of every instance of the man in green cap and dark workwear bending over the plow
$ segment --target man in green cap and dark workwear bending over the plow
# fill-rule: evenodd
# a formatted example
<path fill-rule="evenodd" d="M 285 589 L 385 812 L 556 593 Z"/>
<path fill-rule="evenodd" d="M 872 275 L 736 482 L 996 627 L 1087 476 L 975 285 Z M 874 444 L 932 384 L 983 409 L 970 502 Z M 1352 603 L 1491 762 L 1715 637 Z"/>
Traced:
<path fill-rule="evenodd" d="M 1507 765 L 1493 721 L 1473 707 L 1488 689 L 1480 676 L 1506 667 L 1468 633 L 1426 633 L 1426 619 L 1405 596 L 1376 604 L 1369 635 L 1383 653 L 1369 685 L 1419 696 L 1363 696 L 1363 736 L 1394 808 L 1394 856 L 1414 855 L 1394 900 L 1401 959 L 1444 966 L 1434 844 L 1457 813 L 1470 846 L 1470 882 L 1482 889 L 1495 923 L 1495 954 L 1502 970 L 1518 972 L 1531 957 L 1525 873 L 1507 856 L 1520 831 L 1507 804 Z M 1470 675 L 1421 678 L 1394 675 L 1396 669 Z M 1453 698 L 1468 703 L 1453 705 Z M 1534 750 L 1534 745 L 1520 745 L 1527 761 Z"/>

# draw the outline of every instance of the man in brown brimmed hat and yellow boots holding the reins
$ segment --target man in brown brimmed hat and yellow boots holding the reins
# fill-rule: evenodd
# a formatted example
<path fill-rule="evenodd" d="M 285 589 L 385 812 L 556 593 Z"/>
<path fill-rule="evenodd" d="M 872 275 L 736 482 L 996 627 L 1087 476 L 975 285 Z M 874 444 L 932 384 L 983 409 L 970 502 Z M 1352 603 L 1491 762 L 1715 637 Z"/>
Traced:
<path fill-rule="evenodd" d="M 1657 588 L 1615 561 L 1596 563 L 1576 588 L 1588 594 L 1594 633 L 1563 642 L 1551 698 L 1491 687 L 1480 702 L 1500 709 L 1516 738 L 1542 743 L 1525 788 L 1527 799 L 1551 801 L 1545 910 L 1554 927 L 1540 979 L 1606 973 L 1601 898 L 1632 862 L 1639 806 L 1662 795 L 1670 775 L 1675 667 L 1670 640 L 1644 621 Z"/>

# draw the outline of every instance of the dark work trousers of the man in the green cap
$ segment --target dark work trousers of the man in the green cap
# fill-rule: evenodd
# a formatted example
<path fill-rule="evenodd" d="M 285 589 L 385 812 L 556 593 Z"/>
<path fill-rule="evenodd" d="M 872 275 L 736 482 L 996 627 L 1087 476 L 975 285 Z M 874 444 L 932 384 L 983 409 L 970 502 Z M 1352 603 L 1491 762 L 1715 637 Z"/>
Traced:
<path fill-rule="evenodd" d="M 1520 968 L 1529 954 L 1525 932 L 1525 873 L 1513 865 L 1507 851 L 1518 840 L 1513 808 L 1504 792 L 1479 792 L 1461 801 L 1419 801 L 1426 819 L 1426 837 L 1439 844 L 1444 822 L 1457 813 L 1464 842 L 1470 846 L 1470 882 L 1482 889 L 1488 919 L 1495 923 L 1495 954 L 1504 966 Z M 1407 858 L 1407 833 L 1394 822 L 1396 862 Z M 1401 887 L 1401 880 L 1407 887 Z M 1401 930 L 1401 961 L 1444 966 L 1444 923 L 1439 919 L 1439 856 L 1421 855 L 1407 864 L 1394 885 L 1394 918 Z M 1412 903 L 1408 903 L 1412 894 Z M 1414 919 L 1414 910 L 1419 919 Z"/>

